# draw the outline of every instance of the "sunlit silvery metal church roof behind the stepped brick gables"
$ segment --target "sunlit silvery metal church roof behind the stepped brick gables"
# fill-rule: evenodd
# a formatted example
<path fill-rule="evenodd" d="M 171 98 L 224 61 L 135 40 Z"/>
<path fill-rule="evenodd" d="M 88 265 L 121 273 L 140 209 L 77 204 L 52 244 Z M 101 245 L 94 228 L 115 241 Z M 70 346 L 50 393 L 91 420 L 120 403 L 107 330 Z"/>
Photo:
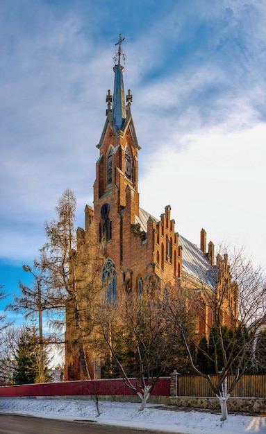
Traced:
<path fill-rule="evenodd" d="M 135 223 L 140 224 L 140 230 L 147 232 L 147 222 L 151 218 L 155 223 L 160 222 L 158 218 L 151 216 L 147 211 L 140 208 L 138 216 L 135 216 Z M 211 266 L 210 262 L 197 245 L 188 241 L 185 237 L 178 234 L 178 245 L 182 250 L 182 270 L 191 277 L 203 281 L 212 288 L 217 282 L 217 269 Z"/>

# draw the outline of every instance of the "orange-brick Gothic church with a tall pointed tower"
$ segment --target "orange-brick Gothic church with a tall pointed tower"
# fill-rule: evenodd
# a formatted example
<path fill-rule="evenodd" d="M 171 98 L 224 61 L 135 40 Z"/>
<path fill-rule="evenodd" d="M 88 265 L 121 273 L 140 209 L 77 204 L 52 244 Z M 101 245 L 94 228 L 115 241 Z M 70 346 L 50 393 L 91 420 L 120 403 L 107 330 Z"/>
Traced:
<path fill-rule="evenodd" d="M 120 35 L 113 67 L 113 95 L 108 90 L 106 121 L 97 144 L 94 207 L 85 207 L 85 229 L 78 228 L 77 238 L 84 239 L 93 223 L 94 236 L 101 246 L 99 279 L 110 303 L 116 303 L 125 293 L 136 297 L 144 294 L 151 281 L 158 286 L 169 282 L 176 288 L 183 282 L 194 288 L 204 284 L 215 295 L 221 279 L 230 274 L 227 255 L 218 255 L 215 259 L 214 245 L 209 242 L 207 246 L 204 229 L 199 234 L 199 248 L 181 236 L 170 205 L 165 206 L 160 218 L 140 208 L 138 159 L 141 147 L 131 114 L 133 97 L 130 90 L 124 92 L 123 41 Z M 231 326 L 237 313 L 238 291 L 233 286 L 224 324 Z M 211 324 L 208 306 L 204 318 L 199 318 L 197 323 L 199 336 L 207 332 L 206 324 Z M 66 340 L 69 333 L 71 330 L 67 328 Z M 70 360 L 71 349 L 67 345 L 65 380 L 82 379 L 78 361 Z M 100 374 L 94 373 L 94 378 L 100 378 Z"/>

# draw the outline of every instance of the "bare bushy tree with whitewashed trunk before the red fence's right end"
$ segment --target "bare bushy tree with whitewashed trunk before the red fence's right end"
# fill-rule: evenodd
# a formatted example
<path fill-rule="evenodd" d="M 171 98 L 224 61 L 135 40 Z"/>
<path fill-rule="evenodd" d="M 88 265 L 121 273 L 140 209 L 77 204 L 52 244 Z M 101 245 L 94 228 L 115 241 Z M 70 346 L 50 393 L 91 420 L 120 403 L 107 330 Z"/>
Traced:
<path fill-rule="evenodd" d="M 106 300 L 97 312 L 98 345 L 99 336 L 103 340 L 99 354 L 105 342 L 106 356 L 113 358 L 128 388 L 140 397 L 140 410 L 144 410 L 156 382 L 176 362 L 182 344 L 174 322 L 166 315 L 163 297 L 150 288 L 145 297 L 130 293 L 116 304 Z M 130 351 L 131 363 L 126 351 Z"/>

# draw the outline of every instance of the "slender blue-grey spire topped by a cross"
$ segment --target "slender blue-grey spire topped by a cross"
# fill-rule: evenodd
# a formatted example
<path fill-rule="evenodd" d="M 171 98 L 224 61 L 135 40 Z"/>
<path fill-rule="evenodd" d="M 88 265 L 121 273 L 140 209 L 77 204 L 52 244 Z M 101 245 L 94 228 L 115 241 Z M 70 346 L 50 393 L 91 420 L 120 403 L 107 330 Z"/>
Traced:
<path fill-rule="evenodd" d="M 125 94 L 124 94 L 124 82 L 123 82 L 123 72 L 124 67 L 120 64 L 121 56 L 123 60 L 125 60 L 126 56 L 124 55 L 121 44 L 126 38 L 120 34 L 119 41 L 115 44 L 118 45 L 118 50 L 114 55 L 115 60 L 115 86 L 114 86 L 114 94 L 113 94 L 113 118 L 115 121 L 115 125 L 118 130 L 121 130 L 122 123 L 124 119 L 126 119 L 126 102 L 125 102 Z"/>

